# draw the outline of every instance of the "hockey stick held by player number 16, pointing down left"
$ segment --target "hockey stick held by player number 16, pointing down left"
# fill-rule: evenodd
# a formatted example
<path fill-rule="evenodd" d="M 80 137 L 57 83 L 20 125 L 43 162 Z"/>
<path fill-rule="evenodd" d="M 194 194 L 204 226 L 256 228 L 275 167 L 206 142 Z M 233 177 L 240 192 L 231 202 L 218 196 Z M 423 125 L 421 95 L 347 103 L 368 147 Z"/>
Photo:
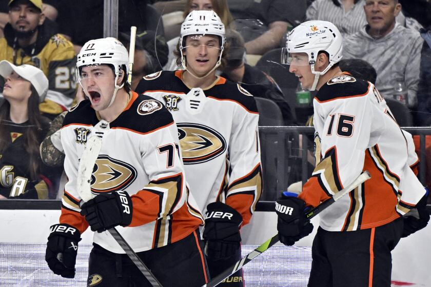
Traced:
<path fill-rule="evenodd" d="M 331 198 L 325 200 L 324 202 L 320 203 L 319 206 L 315 207 L 314 209 L 311 209 L 310 211 L 306 212 L 304 214 L 307 221 L 309 221 L 311 218 L 315 217 L 322 211 L 324 211 L 327 207 L 329 207 L 332 203 L 336 202 L 338 199 L 340 199 L 343 195 L 346 195 L 351 190 L 354 190 L 359 185 L 362 185 L 362 183 L 371 178 L 370 174 L 367 171 L 364 171 L 362 174 L 360 174 L 350 185 L 345 187 L 344 189 L 340 190 L 338 193 L 336 193 Z M 258 248 L 251 251 L 249 254 L 247 254 L 245 257 L 237 261 L 235 264 L 233 264 L 231 267 L 220 273 L 218 276 L 215 276 L 211 281 L 209 281 L 207 284 L 203 285 L 202 287 L 214 287 L 220 284 L 224 279 L 232 275 L 233 273 L 237 272 L 241 268 L 244 267 L 247 263 L 249 263 L 251 260 L 256 258 L 257 256 L 261 255 L 263 252 L 268 250 L 272 245 L 276 244 L 280 240 L 279 235 L 275 235 L 271 237 L 270 239 L 266 240 L 264 243 L 262 243 Z"/>

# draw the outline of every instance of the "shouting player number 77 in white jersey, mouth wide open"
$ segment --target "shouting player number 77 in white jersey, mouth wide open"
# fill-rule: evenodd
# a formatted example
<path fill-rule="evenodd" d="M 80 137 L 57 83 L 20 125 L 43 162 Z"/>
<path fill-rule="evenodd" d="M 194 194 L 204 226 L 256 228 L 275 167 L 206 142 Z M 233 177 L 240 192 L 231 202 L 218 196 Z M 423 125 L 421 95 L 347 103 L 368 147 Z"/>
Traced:
<path fill-rule="evenodd" d="M 159 101 L 130 91 L 128 53 L 117 39 L 90 40 L 77 57 L 89 100 L 66 115 L 61 130 L 68 182 L 60 224 L 48 237 L 49 268 L 74 277 L 77 243 L 90 226 L 96 232 L 88 286 L 151 286 L 106 231 L 116 227 L 163 286 L 202 286 L 208 281 L 203 217 L 188 203 L 172 115 Z M 103 134 L 92 172 L 95 197 L 80 208 L 77 170 L 94 134 Z"/>

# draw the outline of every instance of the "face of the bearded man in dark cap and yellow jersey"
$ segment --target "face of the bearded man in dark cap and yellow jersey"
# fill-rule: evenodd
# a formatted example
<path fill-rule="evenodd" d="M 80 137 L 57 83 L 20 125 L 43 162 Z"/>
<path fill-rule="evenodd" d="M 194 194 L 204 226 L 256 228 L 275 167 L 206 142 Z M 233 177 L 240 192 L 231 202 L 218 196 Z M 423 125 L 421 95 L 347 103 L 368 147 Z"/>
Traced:
<path fill-rule="evenodd" d="M 43 23 L 44 15 L 29 1 L 18 0 L 9 10 L 9 22 L 18 33 L 28 33 Z"/>

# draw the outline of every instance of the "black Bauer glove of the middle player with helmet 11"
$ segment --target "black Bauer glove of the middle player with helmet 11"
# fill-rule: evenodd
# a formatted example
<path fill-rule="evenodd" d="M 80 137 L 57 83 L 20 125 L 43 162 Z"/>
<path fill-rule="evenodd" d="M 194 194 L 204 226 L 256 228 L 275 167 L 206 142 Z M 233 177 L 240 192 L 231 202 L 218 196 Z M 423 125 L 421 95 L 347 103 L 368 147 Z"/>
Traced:
<path fill-rule="evenodd" d="M 241 214 L 227 204 L 208 204 L 203 233 L 208 258 L 220 260 L 237 253 L 241 242 L 241 223 Z"/>

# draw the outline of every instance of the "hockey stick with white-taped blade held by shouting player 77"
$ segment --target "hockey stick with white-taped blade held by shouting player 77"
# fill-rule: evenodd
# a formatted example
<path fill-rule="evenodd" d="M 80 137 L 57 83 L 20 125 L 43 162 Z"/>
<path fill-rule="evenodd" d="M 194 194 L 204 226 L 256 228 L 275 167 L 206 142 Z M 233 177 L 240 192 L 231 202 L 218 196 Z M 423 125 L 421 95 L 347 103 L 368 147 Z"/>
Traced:
<path fill-rule="evenodd" d="M 96 125 L 99 126 L 102 121 Z M 106 122 L 108 126 L 108 123 Z M 99 134 L 99 136 L 97 136 Z M 88 201 L 94 197 L 91 192 L 91 175 L 93 172 L 94 164 L 96 163 L 97 156 L 102 149 L 102 132 L 95 132 L 95 135 L 87 139 L 87 144 L 84 152 L 81 156 L 80 164 L 78 167 L 77 176 L 77 191 L 80 194 L 83 201 Z M 115 241 L 120 245 L 123 251 L 129 256 L 130 260 L 136 265 L 136 267 L 141 271 L 145 278 L 154 287 L 162 287 L 162 284 L 154 277 L 148 267 L 139 258 L 139 256 L 133 251 L 127 241 L 121 236 L 118 230 L 111 228 L 108 232 L 112 235 Z"/>

